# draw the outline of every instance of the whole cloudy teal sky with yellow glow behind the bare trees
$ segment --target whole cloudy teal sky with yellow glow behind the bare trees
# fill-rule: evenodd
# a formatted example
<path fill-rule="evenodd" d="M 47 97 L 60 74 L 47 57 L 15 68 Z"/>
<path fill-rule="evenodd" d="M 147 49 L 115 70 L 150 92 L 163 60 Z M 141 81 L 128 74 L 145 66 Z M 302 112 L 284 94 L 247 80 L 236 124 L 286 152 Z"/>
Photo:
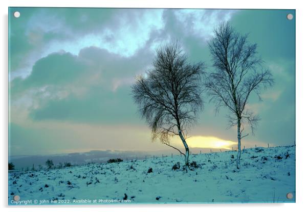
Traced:
<path fill-rule="evenodd" d="M 262 100 L 249 99 L 247 107 L 261 120 L 254 136 L 245 129 L 250 135 L 242 145 L 294 144 L 294 10 L 10 8 L 9 154 L 170 148 L 151 142 L 131 85 L 151 67 L 160 45 L 178 39 L 189 60 L 205 62 L 211 72 L 207 43 L 223 21 L 249 34 L 275 79 Z M 216 114 L 206 95 L 204 101 L 188 145 L 235 147 L 227 110 Z M 172 142 L 182 147 L 180 138 Z"/>

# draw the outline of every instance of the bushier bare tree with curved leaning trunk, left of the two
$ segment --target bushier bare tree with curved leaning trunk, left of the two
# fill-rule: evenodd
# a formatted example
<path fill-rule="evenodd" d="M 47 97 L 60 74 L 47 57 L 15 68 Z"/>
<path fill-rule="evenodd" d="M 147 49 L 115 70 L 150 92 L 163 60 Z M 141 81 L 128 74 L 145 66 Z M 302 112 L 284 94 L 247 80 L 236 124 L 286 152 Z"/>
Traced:
<path fill-rule="evenodd" d="M 132 87 L 139 112 L 152 130 L 152 141 L 178 150 L 189 165 L 187 130 L 195 123 L 196 114 L 203 108 L 202 79 L 204 64 L 188 62 L 179 42 L 157 50 L 152 69 L 136 77 Z M 179 136 L 185 153 L 170 144 L 170 137 Z"/>

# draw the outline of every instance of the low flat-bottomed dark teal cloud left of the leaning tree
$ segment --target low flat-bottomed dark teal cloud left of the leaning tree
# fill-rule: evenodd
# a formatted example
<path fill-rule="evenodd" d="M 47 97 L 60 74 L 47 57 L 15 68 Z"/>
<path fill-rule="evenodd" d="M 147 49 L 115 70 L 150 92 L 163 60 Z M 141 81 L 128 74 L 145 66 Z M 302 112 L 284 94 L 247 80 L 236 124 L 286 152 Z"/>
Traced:
<path fill-rule="evenodd" d="M 126 88 L 114 93 L 91 87 L 81 98 L 69 95 L 47 100 L 30 112 L 33 120 L 62 120 L 78 123 L 139 123 L 135 105 Z"/>

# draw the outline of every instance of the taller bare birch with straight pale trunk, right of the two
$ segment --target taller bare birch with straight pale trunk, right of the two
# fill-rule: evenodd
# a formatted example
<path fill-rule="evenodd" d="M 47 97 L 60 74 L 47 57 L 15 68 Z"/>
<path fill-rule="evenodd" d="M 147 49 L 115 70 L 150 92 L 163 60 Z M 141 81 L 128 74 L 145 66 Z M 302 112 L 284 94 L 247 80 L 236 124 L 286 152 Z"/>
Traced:
<path fill-rule="evenodd" d="M 214 38 L 208 44 L 215 70 L 206 78 L 206 91 L 216 111 L 221 107 L 229 109 L 229 126 L 237 125 L 237 169 L 240 168 L 240 141 L 248 136 L 242 135 L 244 124 L 249 124 L 254 134 L 259 120 L 246 107 L 249 96 L 254 92 L 260 98 L 260 90 L 274 83 L 270 70 L 263 68 L 263 61 L 257 56 L 257 45 L 250 44 L 247 37 L 235 32 L 227 22 L 214 30 Z"/>

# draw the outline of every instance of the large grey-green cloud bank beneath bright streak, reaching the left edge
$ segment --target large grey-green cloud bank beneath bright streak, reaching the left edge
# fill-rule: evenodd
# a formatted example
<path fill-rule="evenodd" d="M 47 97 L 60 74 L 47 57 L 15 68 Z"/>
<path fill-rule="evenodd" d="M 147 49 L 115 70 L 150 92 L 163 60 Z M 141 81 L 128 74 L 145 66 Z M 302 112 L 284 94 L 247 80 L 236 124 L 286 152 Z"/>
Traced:
<path fill-rule="evenodd" d="M 97 47 L 81 49 L 78 56 L 50 54 L 28 77 L 11 83 L 12 120 L 28 113 L 33 120 L 136 122 L 129 87 L 152 57 L 145 49 L 126 58 Z"/>

